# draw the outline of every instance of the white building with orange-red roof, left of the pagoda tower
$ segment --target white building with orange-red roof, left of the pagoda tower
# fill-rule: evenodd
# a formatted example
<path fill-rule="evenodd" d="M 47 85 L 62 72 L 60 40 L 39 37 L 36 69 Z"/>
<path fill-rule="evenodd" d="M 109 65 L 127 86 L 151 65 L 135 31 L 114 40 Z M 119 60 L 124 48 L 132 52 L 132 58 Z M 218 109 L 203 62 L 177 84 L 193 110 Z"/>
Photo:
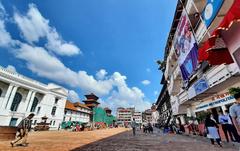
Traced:
<path fill-rule="evenodd" d="M 91 109 L 85 104 L 66 101 L 63 121 L 75 121 L 80 123 L 90 122 Z"/>

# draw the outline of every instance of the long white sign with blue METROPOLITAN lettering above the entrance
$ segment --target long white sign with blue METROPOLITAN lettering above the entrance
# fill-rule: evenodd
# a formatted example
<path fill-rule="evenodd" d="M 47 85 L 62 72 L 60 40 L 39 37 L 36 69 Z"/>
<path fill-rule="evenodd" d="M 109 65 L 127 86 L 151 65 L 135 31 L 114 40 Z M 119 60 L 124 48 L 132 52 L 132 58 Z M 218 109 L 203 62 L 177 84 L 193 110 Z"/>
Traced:
<path fill-rule="evenodd" d="M 215 100 L 215 101 L 212 101 L 212 102 L 208 102 L 208 103 L 198 105 L 198 106 L 196 106 L 196 111 L 195 112 L 199 112 L 199 111 L 202 111 L 202 110 L 207 110 L 207 109 L 210 109 L 210 108 L 214 108 L 214 107 L 222 106 L 222 105 L 225 105 L 225 104 L 233 103 L 235 101 L 236 100 L 234 99 L 233 96 L 227 96 L 227 97 L 224 97 L 222 99 L 218 99 L 218 100 Z"/>

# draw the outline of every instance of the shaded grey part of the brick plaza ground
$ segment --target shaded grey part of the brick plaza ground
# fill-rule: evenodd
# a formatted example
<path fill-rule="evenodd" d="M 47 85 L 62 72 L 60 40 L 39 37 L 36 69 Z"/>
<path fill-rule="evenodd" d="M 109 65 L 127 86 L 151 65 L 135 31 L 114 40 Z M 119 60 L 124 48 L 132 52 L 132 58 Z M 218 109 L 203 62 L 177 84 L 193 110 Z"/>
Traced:
<path fill-rule="evenodd" d="M 124 132 L 72 151 L 238 151 L 236 146 L 220 148 L 206 140 L 154 130 L 153 134 L 137 131 L 136 136 L 132 131 Z"/>

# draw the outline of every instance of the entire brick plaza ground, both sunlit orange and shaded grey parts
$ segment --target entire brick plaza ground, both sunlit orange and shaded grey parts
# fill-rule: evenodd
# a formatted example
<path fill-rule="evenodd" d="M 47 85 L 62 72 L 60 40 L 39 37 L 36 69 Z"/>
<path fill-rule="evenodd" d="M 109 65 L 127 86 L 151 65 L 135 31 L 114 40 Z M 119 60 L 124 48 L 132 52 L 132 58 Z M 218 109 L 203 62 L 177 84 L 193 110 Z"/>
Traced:
<path fill-rule="evenodd" d="M 238 151 L 236 146 L 212 146 L 206 140 L 181 135 L 143 134 L 133 137 L 128 129 L 117 128 L 90 132 L 34 132 L 28 147 L 11 148 L 9 142 L 0 142 L 0 150 L 14 151 Z"/>

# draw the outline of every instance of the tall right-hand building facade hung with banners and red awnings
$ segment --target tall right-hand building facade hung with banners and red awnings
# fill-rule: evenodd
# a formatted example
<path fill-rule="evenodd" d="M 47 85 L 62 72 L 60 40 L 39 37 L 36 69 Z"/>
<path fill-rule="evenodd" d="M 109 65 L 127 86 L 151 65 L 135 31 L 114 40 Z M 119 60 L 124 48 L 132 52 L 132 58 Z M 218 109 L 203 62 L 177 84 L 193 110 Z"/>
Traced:
<path fill-rule="evenodd" d="M 177 3 L 163 71 L 173 115 L 183 124 L 182 115 L 211 110 L 216 118 L 235 101 L 228 89 L 240 86 L 239 4 L 239 0 Z"/>

